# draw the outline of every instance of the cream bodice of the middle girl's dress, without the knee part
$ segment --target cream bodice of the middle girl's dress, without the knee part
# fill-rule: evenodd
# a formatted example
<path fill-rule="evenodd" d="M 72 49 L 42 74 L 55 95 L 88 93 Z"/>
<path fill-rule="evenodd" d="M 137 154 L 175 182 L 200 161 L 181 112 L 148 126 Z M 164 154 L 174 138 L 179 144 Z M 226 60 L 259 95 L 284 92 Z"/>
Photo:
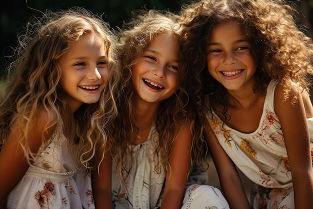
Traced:
<path fill-rule="evenodd" d="M 125 182 L 119 179 L 121 166 L 116 170 L 116 162 L 112 160 L 113 209 L 160 207 L 166 172 L 154 153 L 157 143 L 158 134 L 153 124 L 145 142 L 128 147 L 132 160 L 125 162 L 126 170 L 129 170 L 129 173 L 123 170 L 127 176 Z"/>

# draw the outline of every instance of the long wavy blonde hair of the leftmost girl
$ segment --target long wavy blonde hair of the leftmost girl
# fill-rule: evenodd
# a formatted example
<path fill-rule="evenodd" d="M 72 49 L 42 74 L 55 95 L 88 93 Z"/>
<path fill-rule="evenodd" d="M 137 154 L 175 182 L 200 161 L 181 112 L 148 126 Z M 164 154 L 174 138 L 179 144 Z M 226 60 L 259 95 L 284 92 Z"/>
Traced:
<path fill-rule="evenodd" d="M 5 143 L 11 125 L 17 122 L 23 130 L 19 144 L 31 162 L 37 153 L 29 149 L 28 127 L 36 118 L 37 110 L 43 108 L 48 118 L 52 117 L 51 113 L 56 116 L 51 126 L 56 127 L 58 136 L 66 136 L 68 151 L 76 162 L 90 167 L 95 149 L 102 149 L 106 144 L 105 127 L 117 114 L 115 81 L 119 80 L 120 72 L 116 62 L 116 35 L 101 16 L 83 8 L 46 11 L 40 18 L 33 17 L 25 29 L 18 39 L 16 57 L 8 66 L 6 95 L 0 104 L 0 145 Z M 62 97 L 58 61 L 84 34 L 97 36 L 105 43 L 109 79 L 99 101 L 83 104 L 73 115 Z M 44 130 L 48 128 L 46 124 Z M 41 148 L 44 148 L 51 138 L 42 136 Z"/>

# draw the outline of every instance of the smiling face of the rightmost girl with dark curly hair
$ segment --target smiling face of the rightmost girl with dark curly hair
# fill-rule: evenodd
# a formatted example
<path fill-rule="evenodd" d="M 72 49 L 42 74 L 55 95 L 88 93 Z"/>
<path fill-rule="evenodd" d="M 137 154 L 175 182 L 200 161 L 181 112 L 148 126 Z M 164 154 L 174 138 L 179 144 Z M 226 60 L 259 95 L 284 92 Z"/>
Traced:
<path fill-rule="evenodd" d="M 216 25 L 207 42 L 207 68 L 227 90 L 239 90 L 255 83 L 256 64 L 251 44 L 235 21 Z"/>

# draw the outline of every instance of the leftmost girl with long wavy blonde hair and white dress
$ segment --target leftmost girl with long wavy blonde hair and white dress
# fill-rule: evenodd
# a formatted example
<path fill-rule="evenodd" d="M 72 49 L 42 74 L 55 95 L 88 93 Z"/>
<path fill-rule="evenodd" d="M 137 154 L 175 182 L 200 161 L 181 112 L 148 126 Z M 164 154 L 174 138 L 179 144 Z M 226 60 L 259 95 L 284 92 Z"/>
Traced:
<path fill-rule="evenodd" d="M 94 208 L 73 175 L 93 166 L 116 115 L 115 42 L 82 8 L 27 23 L 0 105 L 1 208 Z"/>

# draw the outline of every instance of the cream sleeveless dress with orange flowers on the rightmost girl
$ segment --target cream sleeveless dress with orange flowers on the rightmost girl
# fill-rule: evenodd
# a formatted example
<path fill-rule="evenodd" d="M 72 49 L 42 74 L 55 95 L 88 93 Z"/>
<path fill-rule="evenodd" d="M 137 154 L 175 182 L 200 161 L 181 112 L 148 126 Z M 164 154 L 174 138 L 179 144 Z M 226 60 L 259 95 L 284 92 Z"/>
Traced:
<path fill-rule="evenodd" d="M 259 185 L 254 208 L 294 208 L 290 165 L 273 107 L 276 85 L 273 80 L 268 84 L 259 125 L 252 133 L 239 132 L 226 124 L 222 128 L 223 122 L 213 110 L 206 113 L 224 151 L 247 178 Z M 310 131 L 312 122 L 307 119 Z"/>

